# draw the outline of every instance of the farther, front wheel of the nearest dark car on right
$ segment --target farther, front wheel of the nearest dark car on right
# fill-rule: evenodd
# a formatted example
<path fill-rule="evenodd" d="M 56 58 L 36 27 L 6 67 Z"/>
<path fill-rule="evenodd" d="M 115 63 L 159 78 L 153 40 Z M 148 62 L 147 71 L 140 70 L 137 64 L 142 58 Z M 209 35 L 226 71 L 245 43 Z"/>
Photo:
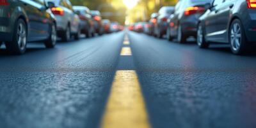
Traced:
<path fill-rule="evenodd" d="M 209 43 L 207 43 L 207 42 L 205 41 L 204 29 L 203 29 L 202 24 L 199 24 L 199 25 L 198 25 L 196 42 L 197 42 L 197 45 L 198 45 L 200 48 L 207 48 L 207 47 L 209 47 Z"/>

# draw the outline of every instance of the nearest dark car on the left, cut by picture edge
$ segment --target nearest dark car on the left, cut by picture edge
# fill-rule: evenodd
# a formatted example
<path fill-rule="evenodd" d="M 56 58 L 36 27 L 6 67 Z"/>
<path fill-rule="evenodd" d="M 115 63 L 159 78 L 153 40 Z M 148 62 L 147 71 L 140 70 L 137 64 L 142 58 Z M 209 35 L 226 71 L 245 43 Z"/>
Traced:
<path fill-rule="evenodd" d="M 45 1 L 8 1 L 0 12 L 0 42 L 13 54 L 23 54 L 27 42 L 56 44 L 56 19 Z"/>

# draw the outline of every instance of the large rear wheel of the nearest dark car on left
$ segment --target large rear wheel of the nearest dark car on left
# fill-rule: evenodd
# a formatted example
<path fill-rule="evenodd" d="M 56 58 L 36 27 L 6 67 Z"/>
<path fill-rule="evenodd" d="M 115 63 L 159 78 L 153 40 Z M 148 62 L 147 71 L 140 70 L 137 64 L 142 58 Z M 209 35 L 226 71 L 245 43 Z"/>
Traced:
<path fill-rule="evenodd" d="M 27 26 L 24 20 L 17 20 L 12 42 L 6 42 L 6 49 L 13 54 L 24 54 L 27 45 Z"/>

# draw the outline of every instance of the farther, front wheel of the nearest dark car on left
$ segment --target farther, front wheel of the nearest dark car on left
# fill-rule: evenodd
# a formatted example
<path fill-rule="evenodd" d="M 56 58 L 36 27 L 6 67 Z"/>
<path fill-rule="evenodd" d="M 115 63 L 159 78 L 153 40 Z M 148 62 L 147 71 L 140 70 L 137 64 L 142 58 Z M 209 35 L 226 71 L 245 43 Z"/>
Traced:
<path fill-rule="evenodd" d="M 45 40 L 44 44 L 45 47 L 47 48 L 53 48 L 56 45 L 57 42 L 57 30 L 56 30 L 56 25 L 52 24 L 51 25 L 51 32 L 50 36 L 47 40 Z"/>

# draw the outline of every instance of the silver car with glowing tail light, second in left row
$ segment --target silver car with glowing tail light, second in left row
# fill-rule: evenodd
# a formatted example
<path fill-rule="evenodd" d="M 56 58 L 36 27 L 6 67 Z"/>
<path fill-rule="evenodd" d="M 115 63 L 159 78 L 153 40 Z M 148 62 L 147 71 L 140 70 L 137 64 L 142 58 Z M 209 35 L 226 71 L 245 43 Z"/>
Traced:
<path fill-rule="evenodd" d="M 72 4 L 69 0 L 47 0 L 51 3 L 51 10 L 57 19 L 58 36 L 65 42 L 70 40 L 74 35 L 76 40 L 79 40 L 80 28 L 79 17 L 74 12 Z"/>

